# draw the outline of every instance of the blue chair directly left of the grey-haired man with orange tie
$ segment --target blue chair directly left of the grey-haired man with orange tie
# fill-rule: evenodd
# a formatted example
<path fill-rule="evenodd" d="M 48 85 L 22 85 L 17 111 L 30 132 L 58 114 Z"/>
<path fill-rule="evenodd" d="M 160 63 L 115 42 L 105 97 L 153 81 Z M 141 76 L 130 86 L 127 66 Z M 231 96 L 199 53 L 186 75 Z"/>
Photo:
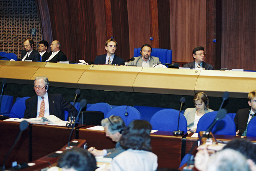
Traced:
<path fill-rule="evenodd" d="M 23 97 L 13 104 L 11 112 L 10 112 L 10 118 L 24 118 L 24 112 L 26 109 L 25 100 L 27 100 L 30 97 Z"/>

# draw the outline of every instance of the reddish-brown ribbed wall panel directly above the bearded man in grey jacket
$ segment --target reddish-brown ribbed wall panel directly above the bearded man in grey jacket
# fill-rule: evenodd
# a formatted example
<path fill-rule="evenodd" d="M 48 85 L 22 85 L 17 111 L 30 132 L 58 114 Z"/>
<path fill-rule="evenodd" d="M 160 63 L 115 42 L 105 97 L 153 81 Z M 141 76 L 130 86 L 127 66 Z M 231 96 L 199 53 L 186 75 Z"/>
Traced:
<path fill-rule="evenodd" d="M 130 37 L 130 56 L 133 56 L 134 48 L 143 44 L 151 44 L 150 41 L 150 12 L 148 0 L 128 0 L 128 21 Z"/>

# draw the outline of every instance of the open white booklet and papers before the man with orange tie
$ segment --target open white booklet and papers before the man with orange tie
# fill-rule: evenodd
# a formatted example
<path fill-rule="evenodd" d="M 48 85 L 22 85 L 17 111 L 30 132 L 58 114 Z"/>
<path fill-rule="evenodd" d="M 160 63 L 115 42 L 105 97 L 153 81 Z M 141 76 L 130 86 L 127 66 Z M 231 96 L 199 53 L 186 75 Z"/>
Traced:
<path fill-rule="evenodd" d="M 31 124 L 47 124 L 47 125 L 59 125 L 59 126 L 66 126 L 68 121 L 62 121 L 60 118 L 49 115 L 42 118 L 29 118 L 29 119 L 18 119 L 18 118 L 9 118 L 4 121 L 11 121 L 11 122 L 21 122 L 21 121 L 27 121 Z"/>

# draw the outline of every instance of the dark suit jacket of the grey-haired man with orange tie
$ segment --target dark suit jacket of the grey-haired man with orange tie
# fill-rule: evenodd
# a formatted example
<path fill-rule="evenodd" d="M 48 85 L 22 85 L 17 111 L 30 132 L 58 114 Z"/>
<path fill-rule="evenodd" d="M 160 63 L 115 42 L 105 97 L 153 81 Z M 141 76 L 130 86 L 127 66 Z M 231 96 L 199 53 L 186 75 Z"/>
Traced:
<path fill-rule="evenodd" d="M 72 105 L 67 102 L 62 94 L 50 94 L 48 93 L 49 98 L 49 111 L 50 115 L 55 115 L 61 120 L 65 120 L 64 111 L 69 112 L 69 116 L 71 115 Z M 33 96 L 28 98 L 26 101 L 26 109 L 24 113 L 24 118 L 36 118 L 37 114 L 37 96 Z M 77 116 L 77 110 L 73 108 L 73 116 Z M 69 118 L 69 117 L 68 117 Z M 69 119 L 68 119 L 69 120 Z"/>

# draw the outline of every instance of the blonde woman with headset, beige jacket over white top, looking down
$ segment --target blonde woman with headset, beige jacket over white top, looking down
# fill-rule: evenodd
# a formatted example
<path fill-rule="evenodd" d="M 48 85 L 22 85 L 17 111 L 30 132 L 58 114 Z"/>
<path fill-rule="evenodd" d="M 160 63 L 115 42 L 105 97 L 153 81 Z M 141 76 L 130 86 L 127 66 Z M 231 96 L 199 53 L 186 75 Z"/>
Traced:
<path fill-rule="evenodd" d="M 196 93 L 193 102 L 195 104 L 195 108 L 187 108 L 184 112 L 184 116 L 187 120 L 188 133 L 196 132 L 196 127 L 199 119 L 204 114 L 213 111 L 209 109 L 209 99 L 203 92 Z"/>

